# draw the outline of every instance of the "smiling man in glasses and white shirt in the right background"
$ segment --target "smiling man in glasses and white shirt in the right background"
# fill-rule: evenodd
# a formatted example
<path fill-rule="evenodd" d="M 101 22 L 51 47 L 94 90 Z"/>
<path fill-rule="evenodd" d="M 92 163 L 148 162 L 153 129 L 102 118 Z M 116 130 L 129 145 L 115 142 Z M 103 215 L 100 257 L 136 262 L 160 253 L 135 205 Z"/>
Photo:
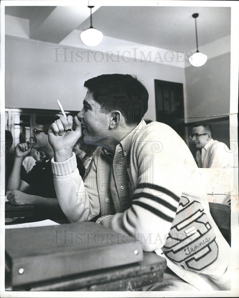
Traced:
<path fill-rule="evenodd" d="M 196 161 L 200 168 L 229 168 L 230 154 L 226 144 L 212 139 L 209 124 L 195 126 L 190 134 L 193 145 L 198 149 Z"/>

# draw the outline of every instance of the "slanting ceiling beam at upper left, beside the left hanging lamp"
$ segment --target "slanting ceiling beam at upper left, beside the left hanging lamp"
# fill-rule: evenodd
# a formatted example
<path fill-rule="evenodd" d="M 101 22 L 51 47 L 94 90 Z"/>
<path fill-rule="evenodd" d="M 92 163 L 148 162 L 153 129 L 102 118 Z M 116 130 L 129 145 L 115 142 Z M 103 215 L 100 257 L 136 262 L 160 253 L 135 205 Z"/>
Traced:
<path fill-rule="evenodd" d="M 30 38 L 58 44 L 89 16 L 90 9 L 83 5 L 41 6 L 30 18 Z"/>

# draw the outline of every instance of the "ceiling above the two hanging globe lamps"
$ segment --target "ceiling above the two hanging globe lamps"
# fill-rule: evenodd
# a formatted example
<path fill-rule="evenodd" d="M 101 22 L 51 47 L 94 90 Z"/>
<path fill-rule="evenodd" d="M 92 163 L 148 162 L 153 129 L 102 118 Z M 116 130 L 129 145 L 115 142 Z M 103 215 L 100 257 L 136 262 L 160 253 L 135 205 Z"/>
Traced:
<path fill-rule="evenodd" d="M 92 9 L 93 27 L 104 36 L 173 51 L 195 48 L 230 35 L 230 7 L 101 6 Z M 60 43 L 73 30 L 90 25 L 87 7 L 5 7 L 5 14 L 30 20 L 30 38 Z"/>

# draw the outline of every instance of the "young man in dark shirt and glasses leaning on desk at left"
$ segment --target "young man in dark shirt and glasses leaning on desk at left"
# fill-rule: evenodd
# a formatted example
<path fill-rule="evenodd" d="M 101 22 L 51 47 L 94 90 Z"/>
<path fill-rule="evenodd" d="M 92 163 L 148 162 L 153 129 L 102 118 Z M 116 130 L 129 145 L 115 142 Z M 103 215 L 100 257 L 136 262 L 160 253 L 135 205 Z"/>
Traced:
<path fill-rule="evenodd" d="M 56 118 L 37 117 L 33 129 L 32 143 L 21 143 L 15 148 L 13 168 L 7 182 L 8 200 L 12 204 L 33 204 L 37 206 L 57 207 L 60 209 L 56 198 L 50 159 L 54 155 L 48 141 L 48 129 Z M 36 164 L 32 170 L 20 176 L 22 162 L 32 148 L 41 150 L 46 157 Z M 83 170 L 84 167 L 83 167 Z M 81 173 L 82 174 L 82 173 Z"/>

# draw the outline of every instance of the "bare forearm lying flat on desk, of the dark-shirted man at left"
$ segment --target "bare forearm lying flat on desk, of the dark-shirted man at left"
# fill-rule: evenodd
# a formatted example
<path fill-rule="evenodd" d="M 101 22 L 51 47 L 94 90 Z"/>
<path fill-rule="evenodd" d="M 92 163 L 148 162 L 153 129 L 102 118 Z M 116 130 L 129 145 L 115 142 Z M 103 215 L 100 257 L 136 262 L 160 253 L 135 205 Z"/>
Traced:
<path fill-rule="evenodd" d="M 44 198 L 39 195 L 29 195 L 19 190 L 10 190 L 6 192 L 7 199 L 12 205 L 35 205 L 38 207 L 54 207 L 60 209 L 57 198 Z"/>

